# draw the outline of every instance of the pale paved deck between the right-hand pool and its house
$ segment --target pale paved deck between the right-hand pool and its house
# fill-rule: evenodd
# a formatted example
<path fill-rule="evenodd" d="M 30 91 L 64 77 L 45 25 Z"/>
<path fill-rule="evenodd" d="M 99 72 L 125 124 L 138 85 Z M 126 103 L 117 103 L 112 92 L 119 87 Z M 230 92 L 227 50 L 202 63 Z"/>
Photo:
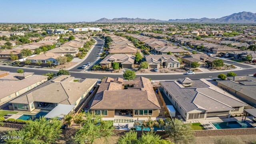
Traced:
<path fill-rule="evenodd" d="M 245 118 L 245 116 L 244 116 Z M 243 120 L 244 120 L 243 118 Z M 249 122 L 252 126 L 256 127 L 256 124 L 252 121 L 253 116 L 247 116 L 246 121 Z M 213 125 L 212 122 L 224 122 L 224 121 L 235 121 L 235 120 L 242 120 L 242 116 L 238 117 L 232 117 L 232 118 L 227 118 L 227 116 L 215 116 L 215 117 L 210 117 L 206 118 L 206 120 L 199 120 L 201 124 L 210 124 L 209 127 L 212 127 L 216 129 Z"/>

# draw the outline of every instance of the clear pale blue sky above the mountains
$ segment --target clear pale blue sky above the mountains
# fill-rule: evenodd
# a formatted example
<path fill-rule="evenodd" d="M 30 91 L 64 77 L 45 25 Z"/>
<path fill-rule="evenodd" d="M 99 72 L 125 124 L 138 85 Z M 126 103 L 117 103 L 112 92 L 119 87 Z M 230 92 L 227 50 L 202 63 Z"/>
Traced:
<path fill-rule="evenodd" d="M 256 13 L 256 0 L 0 0 L 0 22 L 92 22 L 100 18 L 220 18 Z"/>

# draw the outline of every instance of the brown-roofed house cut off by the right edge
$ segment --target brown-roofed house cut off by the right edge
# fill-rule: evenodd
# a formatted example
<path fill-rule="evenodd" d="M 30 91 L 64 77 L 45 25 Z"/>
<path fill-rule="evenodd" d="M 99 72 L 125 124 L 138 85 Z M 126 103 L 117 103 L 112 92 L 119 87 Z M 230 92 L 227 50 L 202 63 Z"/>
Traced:
<path fill-rule="evenodd" d="M 217 81 L 218 87 L 256 107 L 256 78 L 253 76 L 232 76 L 228 79 L 230 80 Z"/>

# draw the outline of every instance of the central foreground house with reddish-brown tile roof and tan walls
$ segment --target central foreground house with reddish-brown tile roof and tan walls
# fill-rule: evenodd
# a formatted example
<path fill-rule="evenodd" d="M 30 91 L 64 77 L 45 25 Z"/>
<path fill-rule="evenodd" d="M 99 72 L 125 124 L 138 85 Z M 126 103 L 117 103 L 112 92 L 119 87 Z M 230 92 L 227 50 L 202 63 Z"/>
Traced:
<path fill-rule="evenodd" d="M 160 104 L 148 78 L 128 81 L 108 77 L 102 80 L 90 109 L 103 118 L 155 118 L 159 116 Z"/>

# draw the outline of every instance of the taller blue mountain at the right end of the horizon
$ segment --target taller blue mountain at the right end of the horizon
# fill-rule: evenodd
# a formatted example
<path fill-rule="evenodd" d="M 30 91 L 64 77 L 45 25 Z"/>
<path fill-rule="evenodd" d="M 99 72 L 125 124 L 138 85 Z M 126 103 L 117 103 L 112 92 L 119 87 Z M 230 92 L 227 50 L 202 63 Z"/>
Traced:
<path fill-rule="evenodd" d="M 256 23 L 256 14 L 252 12 L 238 12 L 221 18 L 170 19 L 168 22 Z"/>

